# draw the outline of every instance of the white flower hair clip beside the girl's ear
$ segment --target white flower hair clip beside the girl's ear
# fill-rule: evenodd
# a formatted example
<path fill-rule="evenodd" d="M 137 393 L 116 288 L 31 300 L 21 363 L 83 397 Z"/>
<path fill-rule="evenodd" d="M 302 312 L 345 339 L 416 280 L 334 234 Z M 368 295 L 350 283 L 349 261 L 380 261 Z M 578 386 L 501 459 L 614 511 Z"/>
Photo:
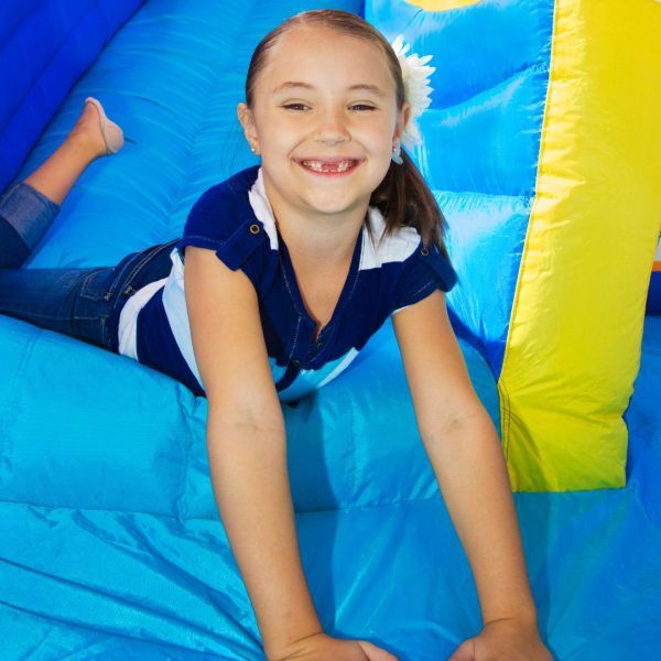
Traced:
<path fill-rule="evenodd" d="M 404 35 L 400 34 L 392 42 L 392 50 L 399 59 L 402 68 L 402 78 L 404 79 L 404 100 L 411 107 L 409 122 L 404 128 L 401 137 L 401 143 L 407 149 L 412 149 L 422 142 L 420 129 L 418 128 L 416 119 L 430 107 L 432 102 L 430 87 L 431 75 L 436 71 L 434 66 L 427 66 L 427 62 L 432 55 L 420 57 L 415 53 L 407 55 L 411 50 L 410 44 L 404 44 Z M 392 151 L 392 161 L 398 165 L 403 163 L 400 153 L 400 145 L 395 145 Z"/>

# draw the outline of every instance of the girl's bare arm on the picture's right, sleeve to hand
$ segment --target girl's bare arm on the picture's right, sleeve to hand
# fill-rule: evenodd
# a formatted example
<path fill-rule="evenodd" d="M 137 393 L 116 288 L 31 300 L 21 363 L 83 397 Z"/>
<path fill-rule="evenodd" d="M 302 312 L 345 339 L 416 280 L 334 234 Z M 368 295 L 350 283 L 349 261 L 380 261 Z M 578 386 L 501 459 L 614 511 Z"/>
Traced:
<path fill-rule="evenodd" d="M 393 326 L 420 433 L 479 595 L 484 630 L 456 658 L 479 659 L 484 649 L 494 659 L 550 659 L 537 631 L 500 442 L 470 383 L 443 293 L 400 311 Z"/>

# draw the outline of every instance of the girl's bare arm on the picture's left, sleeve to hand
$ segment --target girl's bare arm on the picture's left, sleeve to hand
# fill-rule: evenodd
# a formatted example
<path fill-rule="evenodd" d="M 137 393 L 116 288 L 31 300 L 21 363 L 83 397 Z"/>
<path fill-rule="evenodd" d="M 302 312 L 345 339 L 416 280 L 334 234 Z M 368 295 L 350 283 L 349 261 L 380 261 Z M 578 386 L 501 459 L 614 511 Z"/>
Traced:
<path fill-rule="evenodd" d="M 209 404 L 214 492 L 268 659 L 397 661 L 322 630 L 301 565 L 284 421 L 250 280 L 194 247 L 186 248 L 185 269 L 195 360 Z"/>

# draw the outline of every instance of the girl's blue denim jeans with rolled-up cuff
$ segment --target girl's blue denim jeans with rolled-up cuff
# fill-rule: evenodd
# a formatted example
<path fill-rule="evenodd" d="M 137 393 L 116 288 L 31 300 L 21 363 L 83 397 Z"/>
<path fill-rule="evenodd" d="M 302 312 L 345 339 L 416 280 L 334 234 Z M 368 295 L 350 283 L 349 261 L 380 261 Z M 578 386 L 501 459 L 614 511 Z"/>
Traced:
<path fill-rule="evenodd" d="M 58 212 L 24 183 L 0 199 L 0 314 L 117 353 L 123 304 L 170 273 L 177 241 L 133 252 L 116 267 L 21 269 Z"/>

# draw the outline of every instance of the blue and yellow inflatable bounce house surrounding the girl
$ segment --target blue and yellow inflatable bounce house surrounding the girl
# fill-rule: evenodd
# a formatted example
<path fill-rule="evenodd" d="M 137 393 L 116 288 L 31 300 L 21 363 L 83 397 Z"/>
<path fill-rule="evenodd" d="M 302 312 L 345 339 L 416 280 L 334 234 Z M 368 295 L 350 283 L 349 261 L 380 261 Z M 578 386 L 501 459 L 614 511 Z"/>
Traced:
<path fill-rule="evenodd" d="M 205 189 L 256 163 L 235 112 L 253 47 L 326 7 L 433 55 L 412 156 L 447 219 L 451 318 L 501 435 L 542 638 L 562 661 L 659 658 L 661 2 L 4 2 L 0 189 L 87 96 L 127 138 L 25 268 L 110 266 L 180 236 Z M 0 658 L 262 659 L 206 400 L 3 316 L 0 365 Z M 448 658 L 479 604 L 390 324 L 283 412 L 325 630 Z"/>

